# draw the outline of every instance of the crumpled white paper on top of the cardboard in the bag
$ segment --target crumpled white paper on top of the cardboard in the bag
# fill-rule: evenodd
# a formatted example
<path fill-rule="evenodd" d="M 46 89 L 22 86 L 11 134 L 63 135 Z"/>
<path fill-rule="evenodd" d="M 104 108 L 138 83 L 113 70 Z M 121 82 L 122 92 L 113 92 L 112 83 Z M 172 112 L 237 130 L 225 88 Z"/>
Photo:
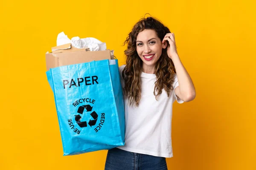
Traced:
<path fill-rule="evenodd" d="M 70 40 L 67 37 L 67 35 L 64 34 L 64 32 L 61 32 L 60 34 L 58 34 L 57 46 L 68 44 L 68 43 L 71 43 L 71 45 L 76 48 L 90 48 L 90 51 L 107 50 L 107 46 L 105 42 L 101 42 L 93 37 L 81 38 L 81 39 L 79 37 L 73 37 Z"/>

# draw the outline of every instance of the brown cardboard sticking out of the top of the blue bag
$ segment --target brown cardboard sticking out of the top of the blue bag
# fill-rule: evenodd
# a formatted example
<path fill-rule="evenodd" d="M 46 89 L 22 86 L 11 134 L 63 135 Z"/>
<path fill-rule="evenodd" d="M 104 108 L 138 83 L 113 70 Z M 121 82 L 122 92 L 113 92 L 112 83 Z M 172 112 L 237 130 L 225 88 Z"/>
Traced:
<path fill-rule="evenodd" d="M 93 60 L 113 59 L 110 50 L 88 51 L 88 48 L 72 47 L 71 43 L 52 47 L 52 53 L 47 53 L 45 57 L 47 71 L 50 68 L 63 65 L 79 64 Z"/>

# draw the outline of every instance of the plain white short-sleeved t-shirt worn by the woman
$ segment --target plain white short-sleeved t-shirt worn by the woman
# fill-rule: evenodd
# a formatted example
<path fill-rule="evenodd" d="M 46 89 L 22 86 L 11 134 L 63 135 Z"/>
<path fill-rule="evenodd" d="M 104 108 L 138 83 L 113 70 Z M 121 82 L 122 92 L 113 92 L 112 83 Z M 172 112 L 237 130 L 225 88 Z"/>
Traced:
<path fill-rule="evenodd" d="M 124 79 L 122 71 L 125 65 L 119 67 L 122 87 Z M 117 148 L 129 152 L 143 153 L 152 156 L 170 158 L 172 154 L 172 104 L 177 100 L 174 90 L 169 97 L 163 89 L 162 94 L 154 96 L 155 74 L 143 73 L 141 78 L 141 99 L 139 106 L 129 105 L 125 99 L 125 145 Z M 179 85 L 177 75 L 173 82 L 174 89 Z"/>

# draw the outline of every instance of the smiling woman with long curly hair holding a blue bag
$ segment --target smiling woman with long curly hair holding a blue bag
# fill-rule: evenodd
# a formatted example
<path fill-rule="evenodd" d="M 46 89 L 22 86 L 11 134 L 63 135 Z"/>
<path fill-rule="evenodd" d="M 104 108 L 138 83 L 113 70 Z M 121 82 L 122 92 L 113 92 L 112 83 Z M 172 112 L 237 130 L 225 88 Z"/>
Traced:
<path fill-rule="evenodd" d="M 105 170 L 167 170 L 172 154 L 172 104 L 195 99 L 177 54 L 175 35 L 153 17 L 137 22 L 119 67 L 125 97 L 125 145 L 108 150 Z"/>

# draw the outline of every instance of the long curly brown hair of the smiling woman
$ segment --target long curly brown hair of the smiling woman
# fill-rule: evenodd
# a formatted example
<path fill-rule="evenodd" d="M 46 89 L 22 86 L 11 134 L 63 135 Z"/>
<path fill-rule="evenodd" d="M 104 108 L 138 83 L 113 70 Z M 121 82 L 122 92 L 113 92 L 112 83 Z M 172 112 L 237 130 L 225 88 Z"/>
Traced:
<path fill-rule="evenodd" d="M 132 28 L 124 45 L 127 43 L 125 52 L 126 66 L 122 71 L 122 77 L 125 80 L 124 95 L 129 100 L 131 105 L 139 105 L 141 98 L 140 74 L 142 72 L 143 61 L 140 59 L 136 51 L 137 35 L 145 30 L 151 29 L 156 31 L 157 36 L 162 41 L 167 33 L 171 33 L 169 28 L 163 25 L 154 17 L 141 18 Z M 169 43 L 167 43 L 169 47 Z M 155 65 L 155 75 L 157 81 L 154 87 L 154 96 L 157 99 L 164 89 L 169 96 L 173 90 L 172 83 L 174 81 L 174 74 L 176 74 L 175 66 L 167 55 L 167 48 L 162 49 L 162 55 Z"/>

